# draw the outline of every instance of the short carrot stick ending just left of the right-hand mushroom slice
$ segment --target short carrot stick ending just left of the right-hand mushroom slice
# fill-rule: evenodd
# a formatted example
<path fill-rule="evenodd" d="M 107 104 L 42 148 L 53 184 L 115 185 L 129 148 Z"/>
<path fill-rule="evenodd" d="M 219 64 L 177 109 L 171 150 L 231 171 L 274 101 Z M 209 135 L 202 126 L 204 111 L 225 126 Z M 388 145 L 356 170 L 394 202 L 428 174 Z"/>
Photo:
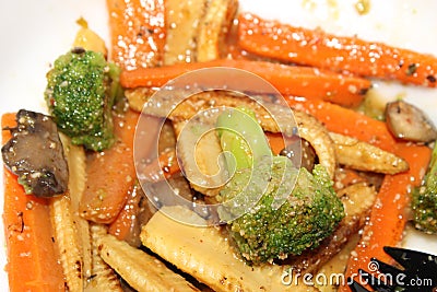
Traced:
<path fill-rule="evenodd" d="M 315 116 L 330 131 L 355 137 L 390 152 L 393 151 L 397 144 L 395 139 L 383 121 L 322 101 L 291 96 L 287 96 L 286 101 L 292 108 L 304 110 Z"/>

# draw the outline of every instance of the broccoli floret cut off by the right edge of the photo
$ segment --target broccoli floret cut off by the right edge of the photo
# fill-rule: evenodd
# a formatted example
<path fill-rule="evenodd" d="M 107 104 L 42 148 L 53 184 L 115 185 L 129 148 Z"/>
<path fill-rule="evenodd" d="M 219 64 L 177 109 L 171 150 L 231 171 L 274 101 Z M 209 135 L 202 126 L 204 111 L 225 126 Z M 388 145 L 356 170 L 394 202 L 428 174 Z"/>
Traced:
<path fill-rule="evenodd" d="M 415 227 L 426 233 L 437 233 L 437 147 L 433 150 L 424 184 L 413 189 L 412 208 Z"/>

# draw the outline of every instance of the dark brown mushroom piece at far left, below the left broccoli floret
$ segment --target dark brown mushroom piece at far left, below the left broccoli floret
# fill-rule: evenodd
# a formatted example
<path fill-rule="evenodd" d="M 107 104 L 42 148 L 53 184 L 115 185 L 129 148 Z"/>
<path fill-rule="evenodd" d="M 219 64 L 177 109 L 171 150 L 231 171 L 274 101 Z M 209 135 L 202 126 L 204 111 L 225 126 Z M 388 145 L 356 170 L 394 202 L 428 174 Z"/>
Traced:
<path fill-rule="evenodd" d="M 52 197 L 67 190 L 69 172 L 55 121 L 21 109 L 12 138 L 2 147 L 7 167 L 19 176 L 26 194 Z"/>

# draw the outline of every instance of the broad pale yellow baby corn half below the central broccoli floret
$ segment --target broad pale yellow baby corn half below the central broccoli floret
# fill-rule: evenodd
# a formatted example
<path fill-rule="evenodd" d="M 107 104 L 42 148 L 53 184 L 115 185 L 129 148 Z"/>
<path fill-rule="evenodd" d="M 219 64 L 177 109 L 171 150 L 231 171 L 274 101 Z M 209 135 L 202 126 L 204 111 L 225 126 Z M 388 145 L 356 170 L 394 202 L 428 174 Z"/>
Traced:
<path fill-rule="evenodd" d="M 196 214 L 182 207 L 163 207 L 164 212 Z M 198 217 L 198 220 L 202 220 Z M 141 233 L 142 243 L 177 268 L 190 273 L 214 291 L 317 291 L 300 281 L 288 284 L 286 266 L 250 267 L 238 258 L 216 227 L 179 223 L 156 212 Z"/>

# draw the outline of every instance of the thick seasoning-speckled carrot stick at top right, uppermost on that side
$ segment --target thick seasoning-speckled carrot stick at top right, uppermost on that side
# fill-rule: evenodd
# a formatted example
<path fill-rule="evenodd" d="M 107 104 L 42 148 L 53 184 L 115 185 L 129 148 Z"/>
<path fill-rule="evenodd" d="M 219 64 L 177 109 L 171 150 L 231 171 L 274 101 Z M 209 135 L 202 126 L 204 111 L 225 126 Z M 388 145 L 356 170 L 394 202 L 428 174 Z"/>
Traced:
<path fill-rule="evenodd" d="M 437 85 L 437 58 L 432 55 L 295 27 L 250 13 L 240 14 L 238 24 L 239 46 L 249 52 L 336 72 Z"/>

